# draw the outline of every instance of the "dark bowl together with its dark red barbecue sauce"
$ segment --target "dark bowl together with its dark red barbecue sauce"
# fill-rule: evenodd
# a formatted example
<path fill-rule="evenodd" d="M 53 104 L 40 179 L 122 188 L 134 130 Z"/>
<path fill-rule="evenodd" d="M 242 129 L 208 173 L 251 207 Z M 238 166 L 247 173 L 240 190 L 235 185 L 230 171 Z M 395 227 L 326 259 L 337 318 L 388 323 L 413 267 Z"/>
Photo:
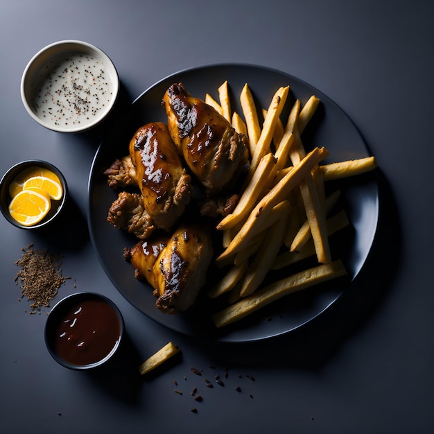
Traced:
<path fill-rule="evenodd" d="M 76 293 L 51 309 L 45 324 L 45 343 L 60 365 L 90 370 L 114 356 L 124 328 L 121 312 L 107 297 Z"/>

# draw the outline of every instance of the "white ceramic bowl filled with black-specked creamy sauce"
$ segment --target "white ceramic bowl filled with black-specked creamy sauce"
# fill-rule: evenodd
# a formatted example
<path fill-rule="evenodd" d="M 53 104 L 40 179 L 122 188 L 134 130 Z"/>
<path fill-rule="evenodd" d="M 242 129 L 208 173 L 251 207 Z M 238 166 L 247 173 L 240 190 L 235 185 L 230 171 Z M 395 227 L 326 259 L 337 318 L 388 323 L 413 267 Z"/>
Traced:
<path fill-rule="evenodd" d="M 58 132 L 83 132 L 103 121 L 119 94 L 112 60 L 92 44 L 65 40 L 36 53 L 21 78 L 30 116 Z"/>

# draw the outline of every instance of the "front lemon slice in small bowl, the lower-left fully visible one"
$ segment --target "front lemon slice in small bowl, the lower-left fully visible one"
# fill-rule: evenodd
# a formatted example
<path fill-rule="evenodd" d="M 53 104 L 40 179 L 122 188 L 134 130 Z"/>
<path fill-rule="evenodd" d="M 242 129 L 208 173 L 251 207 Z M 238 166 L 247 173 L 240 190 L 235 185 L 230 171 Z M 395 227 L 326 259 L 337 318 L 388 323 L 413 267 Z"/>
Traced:
<path fill-rule="evenodd" d="M 21 190 L 9 204 L 9 213 L 14 220 L 24 226 L 39 223 L 50 211 L 49 193 L 39 187 Z"/>

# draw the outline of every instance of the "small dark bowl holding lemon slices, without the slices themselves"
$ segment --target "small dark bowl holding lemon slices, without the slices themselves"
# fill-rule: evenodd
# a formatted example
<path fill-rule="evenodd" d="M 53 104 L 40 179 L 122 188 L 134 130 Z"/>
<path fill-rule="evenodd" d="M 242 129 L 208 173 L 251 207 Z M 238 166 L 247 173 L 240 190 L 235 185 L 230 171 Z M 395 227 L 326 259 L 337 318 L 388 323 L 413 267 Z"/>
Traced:
<path fill-rule="evenodd" d="M 63 189 L 63 195 L 60 200 L 53 200 L 51 202 L 51 209 L 49 211 L 49 214 L 47 214 L 40 223 L 36 223 L 35 225 L 31 226 L 24 226 L 21 225 L 17 220 L 12 218 L 9 214 L 9 203 L 12 200 L 9 194 L 9 185 L 11 182 L 15 179 L 15 177 L 21 172 L 24 171 L 24 169 L 31 167 L 31 166 L 41 166 L 43 168 L 47 168 L 50 171 L 53 171 L 56 175 L 58 175 L 60 179 L 60 183 L 62 184 Z M 0 209 L 3 216 L 8 220 L 9 223 L 12 225 L 19 227 L 21 229 L 38 229 L 40 227 L 46 226 L 49 223 L 51 223 L 62 211 L 64 208 L 65 203 L 67 202 L 67 196 L 68 196 L 68 186 L 67 181 L 64 179 L 64 176 L 59 171 L 59 169 L 53 164 L 44 162 L 39 159 L 31 159 L 26 160 L 24 162 L 15 164 L 12 168 L 10 168 L 1 178 L 0 181 Z"/>

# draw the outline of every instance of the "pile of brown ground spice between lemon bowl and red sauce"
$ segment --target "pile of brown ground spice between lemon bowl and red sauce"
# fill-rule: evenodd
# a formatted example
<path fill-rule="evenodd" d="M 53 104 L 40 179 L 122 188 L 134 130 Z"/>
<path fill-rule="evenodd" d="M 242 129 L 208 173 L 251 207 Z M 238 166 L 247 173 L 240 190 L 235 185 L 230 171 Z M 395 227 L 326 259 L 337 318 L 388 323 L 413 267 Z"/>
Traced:
<path fill-rule="evenodd" d="M 15 284 L 20 282 L 21 298 L 32 301 L 30 313 L 50 307 L 51 300 L 62 284 L 69 277 L 62 276 L 62 257 L 49 250 L 34 250 L 33 244 L 22 248 L 21 259 L 15 262 L 21 270 L 15 277 Z"/>

